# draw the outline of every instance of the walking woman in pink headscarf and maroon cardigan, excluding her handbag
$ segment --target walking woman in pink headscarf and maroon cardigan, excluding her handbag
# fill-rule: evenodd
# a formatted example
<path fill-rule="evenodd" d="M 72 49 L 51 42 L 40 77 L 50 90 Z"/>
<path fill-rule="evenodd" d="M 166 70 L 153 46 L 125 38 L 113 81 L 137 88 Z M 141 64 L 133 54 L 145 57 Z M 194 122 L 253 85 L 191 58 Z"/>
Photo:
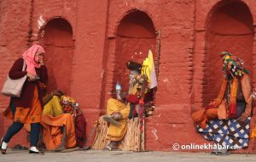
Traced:
<path fill-rule="evenodd" d="M 44 154 L 38 150 L 38 137 L 40 131 L 40 120 L 42 115 L 42 93 L 40 87 L 45 87 L 48 79 L 47 69 L 44 65 L 44 48 L 33 45 L 23 53 L 22 58 L 17 59 L 9 71 L 11 79 L 19 79 L 27 75 L 27 80 L 22 88 L 20 98 L 10 98 L 8 109 L 3 115 L 13 119 L 1 140 L 1 153 L 6 154 L 8 143 L 17 132 L 28 124 L 31 126 L 31 148 L 29 154 Z M 23 63 L 26 70 L 22 71 Z"/>

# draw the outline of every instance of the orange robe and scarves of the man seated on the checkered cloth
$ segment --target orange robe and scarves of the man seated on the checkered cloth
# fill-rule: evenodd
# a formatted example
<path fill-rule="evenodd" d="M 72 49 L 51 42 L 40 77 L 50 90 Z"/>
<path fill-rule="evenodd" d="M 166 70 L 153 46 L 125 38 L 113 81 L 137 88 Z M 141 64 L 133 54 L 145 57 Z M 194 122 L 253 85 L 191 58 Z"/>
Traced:
<path fill-rule="evenodd" d="M 229 87 L 228 79 L 224 79 L 218 98 L 205 109 L 200 109 L 192 114 L 192 119 L 201 128 L 206 129 L 208 120 L 225 120 L 238 118 L 238 101 L 245 103 L 245 110 L 241 113 L 244 117 L 249 117 L 252 112 L 252 87 L 249 76 L 244 74 L 241 78 L 234 78 L 230 81 L 230 101 L 227 102 L 225 96 Z"/>

